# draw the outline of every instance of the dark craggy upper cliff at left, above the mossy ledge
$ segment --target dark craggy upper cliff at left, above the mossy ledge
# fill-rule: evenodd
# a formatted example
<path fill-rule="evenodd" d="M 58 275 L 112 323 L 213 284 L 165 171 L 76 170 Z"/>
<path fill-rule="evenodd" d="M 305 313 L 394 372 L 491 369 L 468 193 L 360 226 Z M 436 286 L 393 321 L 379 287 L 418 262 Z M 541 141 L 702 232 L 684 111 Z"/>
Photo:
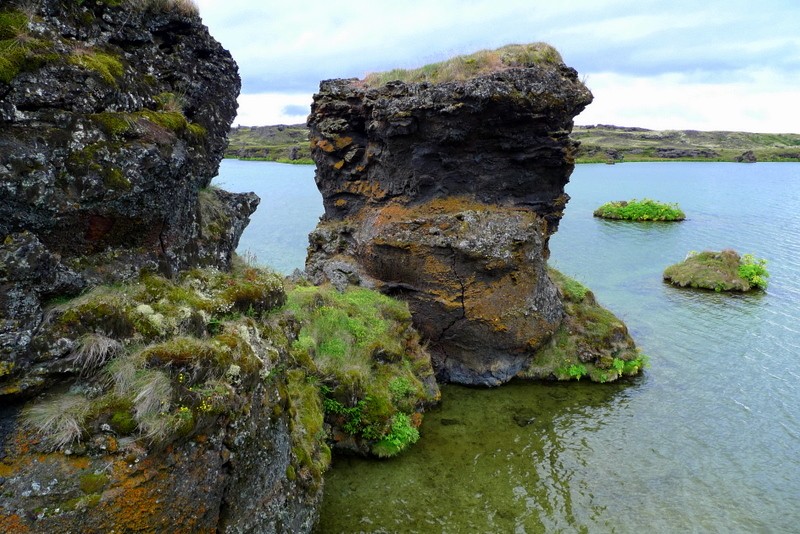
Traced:
<path fill-rule="evenodd" d="M 4 2 L 0 391 L 58 373 L 58 351 L 29 346 L 44 300 L 229 265 L 258 198 L 205 188 L 239 86 L 230 54 L 170 2 Z"/>

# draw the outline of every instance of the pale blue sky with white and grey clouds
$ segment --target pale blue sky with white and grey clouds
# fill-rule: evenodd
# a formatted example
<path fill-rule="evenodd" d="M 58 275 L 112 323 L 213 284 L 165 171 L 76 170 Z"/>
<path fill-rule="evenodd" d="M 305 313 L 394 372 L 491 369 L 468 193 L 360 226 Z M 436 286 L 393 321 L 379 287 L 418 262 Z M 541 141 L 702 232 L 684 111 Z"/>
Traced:
<path fill-rule="evenodd" d="M 328 78 L 545 41 L 595 101 L 576 124 L 800 133 L 798 0 L 196 0 L 239 64 L 234 124 L 305 122 Z"/>

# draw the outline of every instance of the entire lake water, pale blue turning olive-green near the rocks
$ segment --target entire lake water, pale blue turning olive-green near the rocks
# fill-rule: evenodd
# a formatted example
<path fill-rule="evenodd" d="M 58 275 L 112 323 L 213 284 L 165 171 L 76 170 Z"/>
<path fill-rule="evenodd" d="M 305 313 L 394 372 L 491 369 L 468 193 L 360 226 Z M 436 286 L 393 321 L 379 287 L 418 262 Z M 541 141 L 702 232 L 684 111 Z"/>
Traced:
<path fill-rule="evenodd" d="M 322 213 L 313 168 L 225 161 L 262 207 L 242 237 L 301 268 Z M 800 531 L 800 164 L 579 165 L 551 263 L 589 286 L 650 357 L 626 383 L 443 388 L 389 461 L 336 458 L 320 532 Z M 678 202 L 688 220 L 592 217 Z M 263 211 L 262 211 L 263 210 Z M 766 258 L 765 294 L 664 284 L 690 250 Z"/>

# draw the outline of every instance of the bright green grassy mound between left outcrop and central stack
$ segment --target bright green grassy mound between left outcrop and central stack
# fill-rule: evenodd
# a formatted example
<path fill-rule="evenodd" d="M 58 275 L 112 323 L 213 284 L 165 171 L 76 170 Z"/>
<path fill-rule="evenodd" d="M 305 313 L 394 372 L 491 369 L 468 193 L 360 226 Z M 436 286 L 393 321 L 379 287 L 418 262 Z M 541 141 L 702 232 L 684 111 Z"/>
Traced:
<path fill-rule="evenodd" d="M 405 303 L 363 288 L 297 286 L 285 311 L 302 325 L 291 355 L 318 377 L 335 431 L 379 456 L 416 441 L 403 422 L 416 430 L 416 412 L 437 393 L 423 383 L 433 370 Z"/>

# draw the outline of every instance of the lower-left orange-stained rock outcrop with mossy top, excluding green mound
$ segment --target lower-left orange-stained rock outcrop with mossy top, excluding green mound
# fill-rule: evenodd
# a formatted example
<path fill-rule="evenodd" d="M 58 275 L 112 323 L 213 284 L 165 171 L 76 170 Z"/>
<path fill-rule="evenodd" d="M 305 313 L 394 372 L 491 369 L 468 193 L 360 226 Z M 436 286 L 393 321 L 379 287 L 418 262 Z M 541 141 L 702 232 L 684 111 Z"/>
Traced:
<path fill-rule="evenodd" d="M 330 451 L 321 395 L 303 403 L 286 372 L 285 301 L 281 277 L 241 267 L 49 305 L 31 345 L 60 374 L 17 379 L 60 387 L 4 413 L 4 531 L 310 530 Z"/>

